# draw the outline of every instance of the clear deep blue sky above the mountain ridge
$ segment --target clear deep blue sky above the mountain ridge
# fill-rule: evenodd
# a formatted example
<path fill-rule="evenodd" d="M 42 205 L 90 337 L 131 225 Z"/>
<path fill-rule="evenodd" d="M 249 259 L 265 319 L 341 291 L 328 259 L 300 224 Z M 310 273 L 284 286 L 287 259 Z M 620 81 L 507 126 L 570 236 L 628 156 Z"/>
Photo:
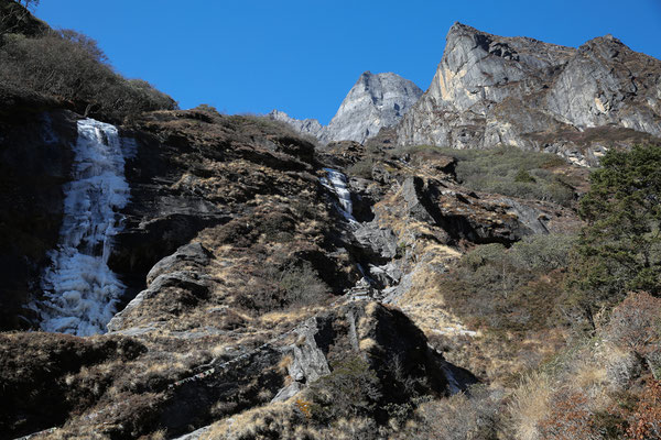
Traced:
<path fill-rule="evenodd" d="M 611 33 L 661 58 L 661 0 L 41 0 L 36 15 L 97 40 L 182 108 L 322 123 L 365 70 L 426 89 L 455 21 L 567 46 Z"/>

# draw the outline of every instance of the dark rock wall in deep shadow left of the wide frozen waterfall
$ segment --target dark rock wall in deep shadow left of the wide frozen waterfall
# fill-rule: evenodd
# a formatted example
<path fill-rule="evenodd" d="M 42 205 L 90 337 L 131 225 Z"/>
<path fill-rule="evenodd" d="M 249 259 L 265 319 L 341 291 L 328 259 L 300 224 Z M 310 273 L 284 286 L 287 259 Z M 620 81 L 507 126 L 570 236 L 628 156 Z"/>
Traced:
<path fill-rule="evenodd" d="M 23 306 L 41 294 L 47 252 L 59 238 L 76 138 L 76 116 L 67 111 L 14 109 L 0 121 L 0 330 L 29 328 L 35 318 Z"/>

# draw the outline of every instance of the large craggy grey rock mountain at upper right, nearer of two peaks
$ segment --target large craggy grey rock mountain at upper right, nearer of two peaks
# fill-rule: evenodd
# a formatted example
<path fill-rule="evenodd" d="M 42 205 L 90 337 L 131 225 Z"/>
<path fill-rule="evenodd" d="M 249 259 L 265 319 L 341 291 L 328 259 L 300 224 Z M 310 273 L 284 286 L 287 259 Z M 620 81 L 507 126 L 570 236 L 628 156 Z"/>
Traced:
<path fill-rule="evenodd" d="M 608 147 L 661 138 L 661 61 L 610 35 L 576 50 L 456 23 L 446 40 L 399 143 L 516 145 L 588 165 Z"/>

